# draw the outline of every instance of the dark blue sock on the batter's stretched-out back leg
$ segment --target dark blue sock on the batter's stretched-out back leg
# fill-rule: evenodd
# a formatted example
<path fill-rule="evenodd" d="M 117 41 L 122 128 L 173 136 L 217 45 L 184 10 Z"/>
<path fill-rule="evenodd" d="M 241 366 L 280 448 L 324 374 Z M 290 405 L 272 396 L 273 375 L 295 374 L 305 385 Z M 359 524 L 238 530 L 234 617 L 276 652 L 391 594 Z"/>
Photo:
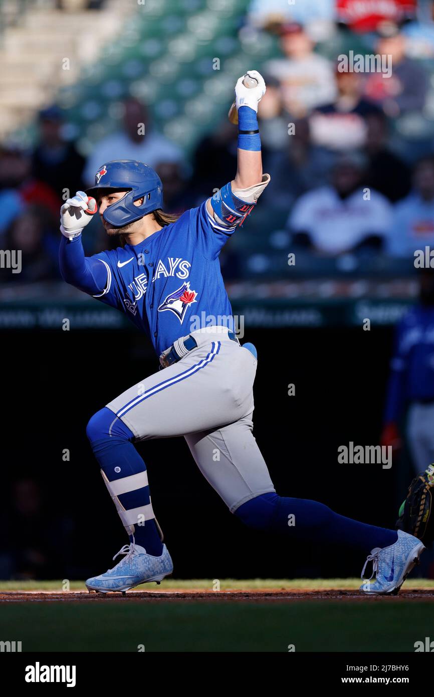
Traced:
<path fill-rule="evenodd" d="M 318 501 L 263 493 L 235 511 L 247 526 L 315 543 L 342 544 L 368 554 L 398 539 L 396 530 L 378 528 L 334 513 Z M 290 516 L 294 516 L 293 518 Z"/>

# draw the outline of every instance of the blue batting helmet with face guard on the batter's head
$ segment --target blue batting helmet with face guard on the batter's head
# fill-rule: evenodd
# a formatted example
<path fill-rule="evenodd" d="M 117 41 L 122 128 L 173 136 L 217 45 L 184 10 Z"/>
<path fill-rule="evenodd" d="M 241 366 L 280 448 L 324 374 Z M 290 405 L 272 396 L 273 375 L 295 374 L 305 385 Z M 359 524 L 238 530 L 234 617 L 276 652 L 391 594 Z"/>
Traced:
<path fill-rule="evenodd" d="M 100 167 L 95 174 L 95 185 L 87 189 L 86 194 L 97 198 L 98 190 L 101 189 L 127 189 L 123 199 L 107 206 L 102 214 L 104 220 L 114 227 L 123 227 L 163 206 L 163 185 L 160 177 L 152 167 L 137 160 L 113 160 Z M 142 197 L 143 204 L 134 206 L 134 201 Z"/>

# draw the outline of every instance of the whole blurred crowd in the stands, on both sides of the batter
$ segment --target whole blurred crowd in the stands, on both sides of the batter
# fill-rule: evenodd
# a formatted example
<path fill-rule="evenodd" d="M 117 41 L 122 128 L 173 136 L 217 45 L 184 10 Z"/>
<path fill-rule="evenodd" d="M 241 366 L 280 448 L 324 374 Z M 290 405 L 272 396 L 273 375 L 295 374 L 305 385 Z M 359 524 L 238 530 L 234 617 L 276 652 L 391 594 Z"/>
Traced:
<path fill-rule="evenodd" d="M 338 56 L 326 57 L 333 54 L 327 41 L 312 38 L 299 22 L 272 31 L 281 56 L 261 68 L 268 87 L 259 109 L 263 166 L 272 181 L 261 199 L 265 216 L 255 221 L 253 215 L 245 233 L 254 240 L 284 229 L 291 251 L 385 254 L 411 263 L 414 250 L 434 245 L 434 141 L 415 144 L 396 124 L 427 113 L 433 17 L 424 24 L 388 23 L 362 40 L 366 54 L 392 56 L 389 77 L 342 71 Z M 350 30 L 339 31 L 350 45 Z M 354 45 L 361 45 L 360 36 Z M 59 207 L 91 185 L 107 160 L 154 167 L 171 213 L 199 205 L 235 175 L 237 132 L 226 118 L 186 160 L 158 132 L 146 104 L 129 97 L 122 110 L 118 132 L 96 142 L 88 158 L 65 138 L 63 112 L 55 105 L 38 114 L 31 150 L 0 146 L 0 246 L 22 250 L 20 282 L 59 278 Z M 108 244 L 98 224 L 86 231 L 86 253 Z M 237 263 L 229 264 L 226 277 L 237 274 Z"/>

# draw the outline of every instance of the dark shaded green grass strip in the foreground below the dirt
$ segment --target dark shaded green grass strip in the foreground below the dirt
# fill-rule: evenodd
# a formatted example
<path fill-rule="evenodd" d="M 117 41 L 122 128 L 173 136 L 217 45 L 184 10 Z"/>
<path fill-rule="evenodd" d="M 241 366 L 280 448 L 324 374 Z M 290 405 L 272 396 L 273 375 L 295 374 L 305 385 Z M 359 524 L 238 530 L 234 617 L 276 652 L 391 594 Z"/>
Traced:
<path fill-rule="evenodd" d="M 1 639 L 24 652 L 403 651 L 433 636 L 425 602 L 10 603 Z"/>

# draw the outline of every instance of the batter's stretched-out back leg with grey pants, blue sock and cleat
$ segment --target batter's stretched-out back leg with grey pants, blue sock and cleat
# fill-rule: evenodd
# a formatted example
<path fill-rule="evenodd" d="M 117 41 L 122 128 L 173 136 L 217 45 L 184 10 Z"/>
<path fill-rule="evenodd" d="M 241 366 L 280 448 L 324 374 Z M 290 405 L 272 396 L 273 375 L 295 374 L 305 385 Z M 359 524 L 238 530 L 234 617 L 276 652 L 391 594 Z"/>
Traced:
<path fill-rule="evenodd" d="M 346 518 L 318 501 L 278 496 L 251 426 L 247 417 L 223 429 L 185 436 L 196 464 L 229 510 L 257 530 L 307 542 L 348 545 L 364 555 L 372 550 L 369 559 L 377 577 L 361 590 L 393 592 L 399 588 L 424 549 L 420 540 Z"/>

